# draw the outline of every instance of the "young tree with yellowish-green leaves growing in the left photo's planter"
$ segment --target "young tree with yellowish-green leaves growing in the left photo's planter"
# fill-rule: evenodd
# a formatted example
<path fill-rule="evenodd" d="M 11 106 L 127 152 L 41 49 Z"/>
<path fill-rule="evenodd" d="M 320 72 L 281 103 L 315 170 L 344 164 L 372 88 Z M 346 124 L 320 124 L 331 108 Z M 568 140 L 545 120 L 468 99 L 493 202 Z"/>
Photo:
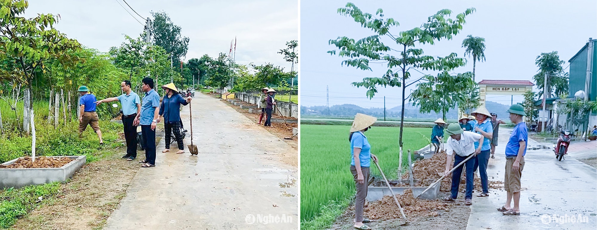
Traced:
<path fill-rule="evenodd" d="M 38 14 L 33 18 L 20 17 L 29 7 L 25 0 L 2 0 L 0 8 L 0 58 L 13 62 L 16 69 L 10 74 L 25 85 L 23 130 L 29 134 L 31 89 L 33 80 L 44 77 L 45 65 L 51 61 L 73 65 L 78 57 L 70 51 L 81 49 L 75 39 L 54 29 L 57 17 Z"/>

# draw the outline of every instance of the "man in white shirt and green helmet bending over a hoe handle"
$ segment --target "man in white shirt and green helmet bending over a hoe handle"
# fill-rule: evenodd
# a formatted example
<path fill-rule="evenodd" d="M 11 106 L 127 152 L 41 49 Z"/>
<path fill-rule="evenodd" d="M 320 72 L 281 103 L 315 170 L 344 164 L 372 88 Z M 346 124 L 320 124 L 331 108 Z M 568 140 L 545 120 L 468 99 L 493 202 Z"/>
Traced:
<path fill-rule="evenodd" d="M 451 123 L 448 125 L 445 132 L 450 135 L 448 138 L 448 146 L 451 148 L 451 151 L 447 152 L 446 170 L 444 172 L 445 175 L 448 175 L 448 172 L 450 172 L 452 155 L 454 155 L 454 167 L 466 160 L 471 154 L 475 154 L 474 156 L 476 157 L 477 154 L 481 153 L 484 137 L 479 133 L 462 130 L 458 123 Z M 475 142 L 479 142 L 479 145 L 477 145 L 479 147 L 476 149 Z M 454 201 L 456 197 L 458 197 L 458 187 L 460 186 L 462 167 L 466 166 L 466 193 L 464 196 L 464 204 L 472 204 L 471 199 L 473 198 L 473 169 L 475 166 L 475 157 L 470 158 L 470 160 L 467 160 L 466 163 L 457 167 L 456 170 L 452 172 L 451 195 L 446 197 L 444 199 L 445 201 Z"/>

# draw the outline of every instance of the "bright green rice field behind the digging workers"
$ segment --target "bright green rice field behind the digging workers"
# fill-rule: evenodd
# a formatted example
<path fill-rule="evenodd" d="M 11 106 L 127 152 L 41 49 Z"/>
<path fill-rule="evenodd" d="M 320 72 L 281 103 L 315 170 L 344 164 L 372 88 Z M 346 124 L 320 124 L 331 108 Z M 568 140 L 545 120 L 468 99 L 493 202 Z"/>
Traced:
<path fill-rule="evenodd" d="M 355 194 L 350 173 L 350 126 L 301 124 L 301 229 L 326 228 L 342 213 Z M 367 131 L 371 153 L 379 158 L 389 179 L 398 178 L 398 134 L 394 127 Z M 404 128 L 403 154 L 429 144 L 430 128 Z M 403 157 L 403 167 L 407 158 Z M 375 167 L 373 164 L 371 167 Z M 379 175 L 377 169 L 372 175 Z M 330 217 L 333 216 L 333 217 Z"/>

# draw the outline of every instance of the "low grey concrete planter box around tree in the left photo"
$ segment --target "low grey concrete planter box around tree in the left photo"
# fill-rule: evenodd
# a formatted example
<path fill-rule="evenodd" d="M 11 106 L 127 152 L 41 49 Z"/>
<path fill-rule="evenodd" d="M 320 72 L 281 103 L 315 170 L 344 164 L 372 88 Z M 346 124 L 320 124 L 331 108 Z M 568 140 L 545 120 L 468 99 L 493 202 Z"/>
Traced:
<path fill-rule="evenodd" d="M 0 189 L 10 187 L 24 187 L 27 185 L 41 185 L 54 181 L 66 181 L 75 172 L 85 165 L 85 156 L 56 156 L 69 157 L 74 159 L 70 163 L 59 168 L 37 168 L 37 169 L 0 169 Z M 2 163 L 2 165 L 13 164 L 19 158 Z"/>

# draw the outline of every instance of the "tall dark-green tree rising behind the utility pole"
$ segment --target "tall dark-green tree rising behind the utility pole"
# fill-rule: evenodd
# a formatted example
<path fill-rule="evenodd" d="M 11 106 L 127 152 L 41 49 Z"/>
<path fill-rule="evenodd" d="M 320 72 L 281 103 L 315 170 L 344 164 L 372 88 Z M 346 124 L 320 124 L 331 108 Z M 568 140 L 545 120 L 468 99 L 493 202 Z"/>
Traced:
<path fill-rule="evenodd" d="M 181 28 L 172 22 L 164 11 L 152 12 L 153 40 L 155 45 L 162 46 L 168 56 L 173 55 L 173 63 L 180 63 L 189 49 L 189 38 L 180 35 Z"/>

